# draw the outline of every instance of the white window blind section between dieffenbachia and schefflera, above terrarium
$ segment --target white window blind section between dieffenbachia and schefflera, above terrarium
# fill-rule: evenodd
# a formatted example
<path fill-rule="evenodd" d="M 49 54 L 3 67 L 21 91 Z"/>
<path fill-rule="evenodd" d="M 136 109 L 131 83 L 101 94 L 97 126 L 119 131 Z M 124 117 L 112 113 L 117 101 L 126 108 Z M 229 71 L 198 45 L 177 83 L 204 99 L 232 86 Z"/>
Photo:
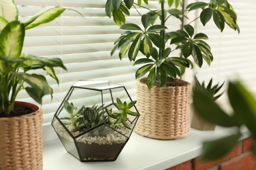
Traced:
<path fill-rule="evenodd" d="M 61 58 L 68 71 L 56 69 L 60 84 L 47 76 L 47 81 L 54 90 L 53 100 L 50 96 L 43 98 L 44 126 L 49 126 L 54 112 L 58 109 L 70 86 L 79 79 L 110 80 L 127 88 L 133 99 L 135 96 L 135 72 L 140 67 L 133 66 L 127 58 L 119 61 L 118 52 L 110 57 L 123 30 L 105 14 L 106 0 L 15 0 L 19 10 L 19 20 L 26 20 L 33 14 L 50 7 L 61 6 L 78 10 L 80 16 L 72 10 L 66 10 L 62 16 L 51 23 L 39 25 L 26 31 L 24 52 L 46 58 Z M 150 9 L 157 9 L 158 1 L 150 1 Z M 138 9 L 140 14 L 147 12 Z M 141 24 L 137 10 L 131 10 L 127 23 Z M 169 29 L 179 24 L 169 24 Z M 40 71 L 39 71 L 40 73 Z M 42 72 L 43 73 L 43 72 Z M 26 92 L 20 92 L 18 99 L 35 103 Z M 35 103 L 37 104 L 37 103 Z"/>

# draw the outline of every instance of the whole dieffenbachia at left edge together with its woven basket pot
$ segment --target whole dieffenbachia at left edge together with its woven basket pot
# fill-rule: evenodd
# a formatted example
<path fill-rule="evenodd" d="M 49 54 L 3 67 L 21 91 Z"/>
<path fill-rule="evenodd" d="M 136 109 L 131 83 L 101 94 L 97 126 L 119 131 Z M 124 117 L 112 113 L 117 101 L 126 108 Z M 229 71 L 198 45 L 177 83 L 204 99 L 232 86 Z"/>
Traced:
<path fill-rule="evenodd" d="M 48 9 L 24 22 L 18 20 L 12 0 L 1 1 L 0 9 L 0 169 L 43 169 L 42 110 L 16 101 L 16 96 L 26 90 L 42 104 L 42 97 L 53 95 L 53 89 L 44 75 L 30 71 L 43 69 L 58 83 L 54 67 L 66 67 L 59 58 L 40 58 L 22 48 L 26 29 L 51 22 L 66 9 Z"/>

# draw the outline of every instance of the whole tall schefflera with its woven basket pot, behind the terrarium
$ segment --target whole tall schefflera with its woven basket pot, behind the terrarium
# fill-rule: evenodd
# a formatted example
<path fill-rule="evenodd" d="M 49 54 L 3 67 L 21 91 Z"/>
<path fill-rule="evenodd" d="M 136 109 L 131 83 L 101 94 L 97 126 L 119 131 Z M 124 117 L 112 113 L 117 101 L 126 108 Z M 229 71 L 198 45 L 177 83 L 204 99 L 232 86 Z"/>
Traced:
<path fill-rule="evenodd" d="M 213 61 L 210 46 L 204 41 L 205 33 L 196 33 L 192 22 L 203 25 L 213 18 L 223 31 L 228 25 L 238 32 L 236 12 L 226 0 L 196 2 L 184 7 L 185 1 L 160 0 L 160 9 L 150 9 L 148 0 L 107 0 L 106 14 L 114 18 L 120 29 L 126 30 L 115 42 L 111 55 L 119 50 L 119 58 L 126 54 L 133 65 L 142 64 L 135 73 L 137 80 L 137 108 L 140 118 L 135 131 L 156 139 L 179 139 L 190 130 L 190 83 L 179 77 L 192 61 L 202 67 Z M 152 2 L 153 3 L 153 2 Z M 154 2 L 156 3 L 156 2 Z M 144 9 L 141 24 L 125 23 L 130 10 Z M 188 19 L 186 12 L 200 10 L 200 16 Z M 169 30 L 168 21 L 175 18 L 181 27 Z M 184 24 L 186 20 L 186 23 Z M 179 57 L 173 55 L 176 50 Z M 192 61 L 190 58 L 192 57 Z M 146 78 L 144 77 L 146 75 Z"/>

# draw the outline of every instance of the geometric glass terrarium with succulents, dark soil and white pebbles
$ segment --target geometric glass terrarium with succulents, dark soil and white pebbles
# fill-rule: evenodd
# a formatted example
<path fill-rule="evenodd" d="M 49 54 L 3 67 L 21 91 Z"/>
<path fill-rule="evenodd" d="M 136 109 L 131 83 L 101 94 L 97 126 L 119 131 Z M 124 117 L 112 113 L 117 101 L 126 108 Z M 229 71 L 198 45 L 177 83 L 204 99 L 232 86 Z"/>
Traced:
<path fill-rule="evenodd" d="M 67 152 L 80 161 L 115 161 L 139 118 L 124 86 L 77 80 L 56 110 L 52 126 Z"/>

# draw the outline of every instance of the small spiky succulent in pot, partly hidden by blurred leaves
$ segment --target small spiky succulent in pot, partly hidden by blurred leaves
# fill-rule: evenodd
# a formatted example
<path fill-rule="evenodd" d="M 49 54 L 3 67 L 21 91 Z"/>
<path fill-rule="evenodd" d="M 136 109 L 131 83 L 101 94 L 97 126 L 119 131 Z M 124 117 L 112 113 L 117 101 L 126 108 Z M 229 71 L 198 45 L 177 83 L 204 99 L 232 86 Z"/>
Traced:
<path fill-rule="evenodd" d="M 217 95 L 217 93 L 223 87 L 224 82 L 221 85 L 219 85 L 219 83 L 213 85 L 213 78 L 211 78 L 211 80 L 209 80 L 209 83 L 207 85 L 205 85 L 205 82 L 203 81 L 201 84 L 196 76 L 194 76 L 194 82 L 195 83 L 194 83 L 193 92 L 194 92 L 195 88 L 202 88 L 202 90 L 205 90 L 205 92 L 207 92 L 209 94 L 209 96 L 211 96 L 213 98 L 213 101 L 217 100 L 224 93 L 224 92 L 222 92 Z M 192 115 L 190 127 L 194 128 L 194 129 L 198 129 L 198 130 L 209 131 L 209 130 L 214 130 L 216 127 L 216 124 L 207 122 L 207 120 L 204 120 L 203 118 L 198 116 L 198 114 L 194 110 L 194 114 Z"/>

